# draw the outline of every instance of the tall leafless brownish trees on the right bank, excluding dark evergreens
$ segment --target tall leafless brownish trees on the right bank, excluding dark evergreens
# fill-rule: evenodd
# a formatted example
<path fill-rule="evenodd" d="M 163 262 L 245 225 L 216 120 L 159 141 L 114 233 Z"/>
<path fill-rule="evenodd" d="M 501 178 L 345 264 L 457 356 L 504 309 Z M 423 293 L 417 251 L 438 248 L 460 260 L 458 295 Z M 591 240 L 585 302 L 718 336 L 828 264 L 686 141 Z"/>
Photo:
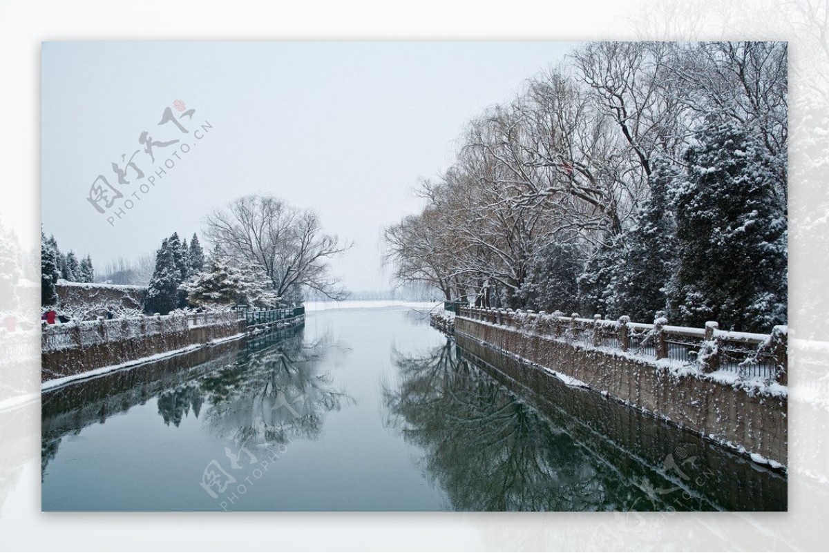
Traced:
<path fill-rule="evenodd" d="M 575 260 L 582 274 L 562 278 L 582 305 L 630 305 L 613 279 L 641 288 L 656 242 L 671 243 L 672 187 L 710 118 L 764 145 L 786 216 L 786 53 L 778 42 L 582 46 L 468 124 L 453 165 L 422 186 L 426 207 L 386 230 L 386 258 L 401 281 L 510 307 L 564 282 L 543 273 Z M 676 262 L 664 252 L 659 263 Z"/>

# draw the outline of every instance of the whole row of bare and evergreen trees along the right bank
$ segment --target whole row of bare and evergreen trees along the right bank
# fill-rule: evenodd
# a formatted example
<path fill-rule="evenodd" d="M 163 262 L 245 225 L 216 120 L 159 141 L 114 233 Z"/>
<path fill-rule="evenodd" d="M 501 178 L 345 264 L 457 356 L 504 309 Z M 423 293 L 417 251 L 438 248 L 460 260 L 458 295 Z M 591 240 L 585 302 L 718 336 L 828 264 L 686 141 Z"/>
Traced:
<path fill-rule="evenodd" d="M 385 230 L 447 300 L 768 332 L 787 310 L 787 46 L 597 42 L 468 123 Z"/>

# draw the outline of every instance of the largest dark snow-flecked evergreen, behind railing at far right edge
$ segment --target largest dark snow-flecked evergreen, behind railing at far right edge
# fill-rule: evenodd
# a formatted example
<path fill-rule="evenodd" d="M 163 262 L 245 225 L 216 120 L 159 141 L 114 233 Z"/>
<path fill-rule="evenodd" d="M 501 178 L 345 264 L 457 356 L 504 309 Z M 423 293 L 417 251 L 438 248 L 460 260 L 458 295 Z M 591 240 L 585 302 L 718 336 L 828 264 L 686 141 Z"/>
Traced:
<path fill-rule="evenodd" d="M 787 319 L 787 214 L 774 199 L 785 183 L 738 123 L 709 119 L 696 138 L 673 191 L 679 265 L 671 317 L 768 332 Z"/>

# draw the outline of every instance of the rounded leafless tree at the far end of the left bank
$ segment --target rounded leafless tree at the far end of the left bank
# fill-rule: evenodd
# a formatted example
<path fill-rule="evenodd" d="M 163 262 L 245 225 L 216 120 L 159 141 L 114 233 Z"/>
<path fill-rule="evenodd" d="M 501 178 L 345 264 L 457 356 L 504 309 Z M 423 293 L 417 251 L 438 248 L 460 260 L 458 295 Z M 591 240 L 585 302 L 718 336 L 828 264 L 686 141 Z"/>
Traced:
<path fill-rule="evenodd" d="M 205 237 L 216 255 L 262 266 L 279 296 L 306 287 L 332 300 L 348 296 L 328 262 L 351 243 L 322 233 L 313 211 L 294 209 L 272 195 L 246 195 L 206 218 Z"/>

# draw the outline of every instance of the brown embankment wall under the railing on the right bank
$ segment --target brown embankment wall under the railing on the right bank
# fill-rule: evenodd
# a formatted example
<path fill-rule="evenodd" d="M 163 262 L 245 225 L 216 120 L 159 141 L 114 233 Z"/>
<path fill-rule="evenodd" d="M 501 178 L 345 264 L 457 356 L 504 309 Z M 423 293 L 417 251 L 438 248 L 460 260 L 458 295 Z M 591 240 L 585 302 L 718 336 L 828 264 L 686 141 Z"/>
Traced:
<path fill-rule="evenodd" d="M 543 387 L 545 378 L 559 377 L 756 459 L 787 464 L 788 394 L 779 384 L 727 382 L 671 359 L 645 359 L 465 317 L 455 318 L 454 330 L 461 347 L 490 362 L 488 350 L 492 364 L 527 386 Z M 498 363 L 505 353 L 528 363 Z"/>

